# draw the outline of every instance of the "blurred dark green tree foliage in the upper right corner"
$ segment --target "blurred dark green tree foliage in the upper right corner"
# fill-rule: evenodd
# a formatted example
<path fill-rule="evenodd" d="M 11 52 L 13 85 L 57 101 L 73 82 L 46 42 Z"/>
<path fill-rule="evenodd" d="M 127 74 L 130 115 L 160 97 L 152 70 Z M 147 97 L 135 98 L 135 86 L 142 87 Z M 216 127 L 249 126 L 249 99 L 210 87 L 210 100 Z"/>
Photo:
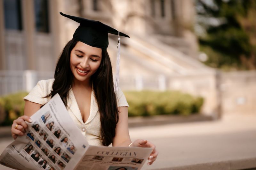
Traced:
<path fill-rule="evenodd" d="M 207 64 L 255 69 L 256 43 L 252 40 L 256 37 L 253 35 L 256 27 L 250 21 L 251 15 L 256 14 L 255 4 L 254 0 L 196 1 L 198 24 L 205 29 L 199 42 L 201 50 L 209 56 Z"/>

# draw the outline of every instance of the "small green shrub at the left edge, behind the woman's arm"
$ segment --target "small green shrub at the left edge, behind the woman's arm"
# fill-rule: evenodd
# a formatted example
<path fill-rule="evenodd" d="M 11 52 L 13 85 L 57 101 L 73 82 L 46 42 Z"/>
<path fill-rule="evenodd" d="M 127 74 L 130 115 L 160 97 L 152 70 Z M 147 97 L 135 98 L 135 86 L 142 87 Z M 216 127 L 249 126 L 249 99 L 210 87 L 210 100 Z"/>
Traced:
<path fill-rule="evenodd" d="M 27 92 L 18 92 L 0 97 L 0 108 L 3 108 L 1 114 L 5 114 L 1 126 L 11 125 L 12 121 L 24 114 L 25 102 L 23 97 L 28 95 Z"/>

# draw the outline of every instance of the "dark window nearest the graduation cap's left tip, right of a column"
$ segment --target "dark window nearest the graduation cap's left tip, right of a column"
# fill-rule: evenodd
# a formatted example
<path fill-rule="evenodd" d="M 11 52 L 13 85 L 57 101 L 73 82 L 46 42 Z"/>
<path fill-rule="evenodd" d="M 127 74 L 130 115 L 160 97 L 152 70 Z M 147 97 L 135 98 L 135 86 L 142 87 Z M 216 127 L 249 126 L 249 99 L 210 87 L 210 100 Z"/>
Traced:
<path fill-rule="evenodd" d="M 36 31 L 49 33 L 48 0 L 35 0 Z"/>

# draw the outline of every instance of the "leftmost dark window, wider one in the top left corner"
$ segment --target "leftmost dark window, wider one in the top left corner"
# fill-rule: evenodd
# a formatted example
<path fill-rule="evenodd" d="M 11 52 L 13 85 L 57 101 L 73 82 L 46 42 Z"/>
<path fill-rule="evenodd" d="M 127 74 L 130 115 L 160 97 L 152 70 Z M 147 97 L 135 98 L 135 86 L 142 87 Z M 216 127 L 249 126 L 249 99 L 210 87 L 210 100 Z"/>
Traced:
<path fill-rule="evenodd" d="M 6 29 L 22 30 L 21 0 L 4 0 Z"/>

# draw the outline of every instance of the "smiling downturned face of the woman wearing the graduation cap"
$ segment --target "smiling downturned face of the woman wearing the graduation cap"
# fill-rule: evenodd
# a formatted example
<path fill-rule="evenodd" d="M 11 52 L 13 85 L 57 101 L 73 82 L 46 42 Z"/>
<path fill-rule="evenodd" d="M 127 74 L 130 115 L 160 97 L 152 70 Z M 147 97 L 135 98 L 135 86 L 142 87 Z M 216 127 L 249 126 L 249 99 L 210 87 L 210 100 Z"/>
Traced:
<path fill-rule="evenodd" d="M 101 48 L 89 46 L 78 41 L 70 53 L 70 69 L 78 81 L 89 81 L 100 67 Z"/>

